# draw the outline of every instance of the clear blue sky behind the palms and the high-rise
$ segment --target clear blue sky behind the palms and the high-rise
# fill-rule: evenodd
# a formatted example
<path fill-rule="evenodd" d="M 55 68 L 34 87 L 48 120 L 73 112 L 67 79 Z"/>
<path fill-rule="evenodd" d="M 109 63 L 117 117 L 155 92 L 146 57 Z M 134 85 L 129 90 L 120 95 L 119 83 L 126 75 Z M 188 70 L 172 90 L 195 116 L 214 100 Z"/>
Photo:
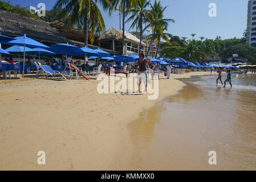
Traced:
<path fill-rule="evenodd" d="M 191 38 L 190 34 L 215 39 L 221 36 L 222 39 L 241 38 L 247 23 L 247 0 L 160 0 L 162 6 L 168 6 L 165 11 L 165 18 L 172 18 L 175 23 L 170 23 L 168 32 L 180 37 Z M 10 0 L 11 4 L 25 6 L 35 6 L 43 2 L 46 9 L 50 10 L 55 0 Z M 153 0 L 151 0 L 153 3 Z M 217 16 L 210 17 L 209 3 L 216 3 Z M 103 12 L 106 29 L 114 27 L 119 30 L 119 13 L 115 12 L 108 16 Z M 125 27 L 128 30 L 128 23 Z"/>

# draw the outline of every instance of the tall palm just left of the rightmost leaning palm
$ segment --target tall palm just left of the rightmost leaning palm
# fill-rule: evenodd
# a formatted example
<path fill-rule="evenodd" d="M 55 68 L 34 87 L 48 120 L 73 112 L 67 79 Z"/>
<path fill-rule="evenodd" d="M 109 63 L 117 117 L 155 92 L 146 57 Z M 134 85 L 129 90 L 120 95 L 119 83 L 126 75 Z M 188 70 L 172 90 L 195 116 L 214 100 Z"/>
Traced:
<path fill-rule="evenodd" d="M 136 26 L 136 30 L 137 28 L 140 29 L 140 49 L 139 49 L 139 53 L 141 50 L 141 42 L 142 42 L 142 35 L 143 35 L 143 23 L 147 22 L 147 7 L 150 5 L 150 1 L 147 0 L 139 0 L 138 1 L 138 7 L 137 8 L 133 8 L 131 9 L 131 16 L 126 20 L 126 22 L 128 22 L 129 20 L 133 20 L 131 27 L 130 28 L 134 28 Z"/>

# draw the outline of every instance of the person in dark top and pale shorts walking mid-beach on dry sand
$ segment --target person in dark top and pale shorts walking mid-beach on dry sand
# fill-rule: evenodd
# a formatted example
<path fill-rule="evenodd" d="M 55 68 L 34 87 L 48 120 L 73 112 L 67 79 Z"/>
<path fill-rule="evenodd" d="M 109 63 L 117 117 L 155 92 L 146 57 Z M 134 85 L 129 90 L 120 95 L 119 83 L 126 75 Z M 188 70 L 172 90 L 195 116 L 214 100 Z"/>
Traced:
<path fill-rule="evenodd" d="M 140 53 L 139 55 L 139 61 L 137 62 L 137 73 L 140 76 L 140 74 L 145 74 L 146 76 L 146 92 L 147 92 L 147 86 L 148 86 L 148 77 L 147 77 L 147 64 L 151 64 L 151 60 L 144 59 L 144 54 Z M 139 92 L 140 92 L 140 85 L 141 85 L 141 78 L 139 77 L 138 79 L 138 84 L 139 84 Z"/>

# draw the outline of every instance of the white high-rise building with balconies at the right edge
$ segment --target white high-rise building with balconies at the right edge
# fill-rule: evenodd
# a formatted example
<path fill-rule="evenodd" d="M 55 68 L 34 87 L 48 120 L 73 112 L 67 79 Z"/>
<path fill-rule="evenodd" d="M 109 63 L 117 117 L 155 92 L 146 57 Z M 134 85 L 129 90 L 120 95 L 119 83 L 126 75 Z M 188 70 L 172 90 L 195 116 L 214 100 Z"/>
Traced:
<path fill-rule="evenodd" d="M 248 1 L 246 44 L 256 45 L 256 1 Z"/>

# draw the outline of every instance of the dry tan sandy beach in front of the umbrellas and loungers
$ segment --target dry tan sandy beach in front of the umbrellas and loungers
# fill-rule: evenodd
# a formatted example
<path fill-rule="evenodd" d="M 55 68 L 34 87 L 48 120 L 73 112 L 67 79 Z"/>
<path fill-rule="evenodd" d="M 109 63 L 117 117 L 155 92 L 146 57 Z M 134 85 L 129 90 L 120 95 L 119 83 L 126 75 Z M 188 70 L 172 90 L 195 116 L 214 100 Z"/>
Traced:
<path fill-rule="evenodd" d="M 98 80 L 0 80 L 0 169 L 140 170 L 131 122 L 176 94 L 184 86 L 176 78 L 206 74 L 211 73 L 172 74 L 170 80 L 160 75 L 157 100 L 139 93 L 99 94 Z M 46 152 L 46 165 L 37 163 L 38 151 Z"/>

